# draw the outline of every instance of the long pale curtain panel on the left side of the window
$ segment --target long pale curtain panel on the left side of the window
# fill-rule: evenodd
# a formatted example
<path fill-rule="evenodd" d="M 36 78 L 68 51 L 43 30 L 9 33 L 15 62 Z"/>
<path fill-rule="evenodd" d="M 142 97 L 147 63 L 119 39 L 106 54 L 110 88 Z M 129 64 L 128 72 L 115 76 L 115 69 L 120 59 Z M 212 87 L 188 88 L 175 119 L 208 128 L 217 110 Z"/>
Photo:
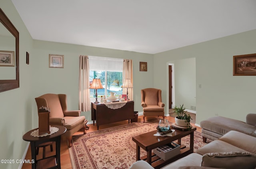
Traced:
<path fill-rule="evenodd" d="M 79 110 L 89 111 L 90 105 L 90 69 L 88 56 L 80 55 L 79 57 Z"/>

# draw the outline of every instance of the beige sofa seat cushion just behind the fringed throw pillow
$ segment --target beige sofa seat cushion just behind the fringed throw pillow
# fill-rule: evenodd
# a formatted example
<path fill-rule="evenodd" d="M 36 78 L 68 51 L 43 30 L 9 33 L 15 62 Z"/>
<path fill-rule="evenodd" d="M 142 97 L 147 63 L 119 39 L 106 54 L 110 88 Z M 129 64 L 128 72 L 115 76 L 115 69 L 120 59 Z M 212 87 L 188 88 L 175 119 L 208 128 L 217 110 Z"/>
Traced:
<path fill-rule="evenodd" d="M 240 149 L 234 145 L 226 143 L 225 141 L 214 140 L 196 150 L 196 153 L 204 155 L 206 153 L 225 153 L 231 151 L 247 152 L 244 149 Z"/>

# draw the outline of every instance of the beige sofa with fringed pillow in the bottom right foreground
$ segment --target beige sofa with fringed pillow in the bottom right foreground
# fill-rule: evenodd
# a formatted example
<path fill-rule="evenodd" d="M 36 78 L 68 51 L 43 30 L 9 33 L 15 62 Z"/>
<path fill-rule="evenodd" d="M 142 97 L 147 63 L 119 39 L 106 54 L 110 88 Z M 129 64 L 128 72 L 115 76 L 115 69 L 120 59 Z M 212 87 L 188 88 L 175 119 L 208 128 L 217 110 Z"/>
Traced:
<path fill-rule="evenodd" d="M 162 169 L 256 169 L 256 137 L 229 131 L 217 140 Z M 147 162 L 136 161 L 130 169 L 153 169 Z"/>

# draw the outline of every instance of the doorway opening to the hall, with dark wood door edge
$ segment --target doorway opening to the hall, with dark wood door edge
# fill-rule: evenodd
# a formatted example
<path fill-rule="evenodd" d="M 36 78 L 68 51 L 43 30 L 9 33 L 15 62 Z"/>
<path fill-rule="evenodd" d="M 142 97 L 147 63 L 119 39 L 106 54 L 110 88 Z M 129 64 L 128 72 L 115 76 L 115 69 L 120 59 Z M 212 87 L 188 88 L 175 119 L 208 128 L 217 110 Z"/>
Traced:
<path fill-rule="evenodd" d="M 182 104 L 188 112 L 196 113 L 196 58 L 169 62 L 168 90 L 169 115 L 175 105 Z"/>

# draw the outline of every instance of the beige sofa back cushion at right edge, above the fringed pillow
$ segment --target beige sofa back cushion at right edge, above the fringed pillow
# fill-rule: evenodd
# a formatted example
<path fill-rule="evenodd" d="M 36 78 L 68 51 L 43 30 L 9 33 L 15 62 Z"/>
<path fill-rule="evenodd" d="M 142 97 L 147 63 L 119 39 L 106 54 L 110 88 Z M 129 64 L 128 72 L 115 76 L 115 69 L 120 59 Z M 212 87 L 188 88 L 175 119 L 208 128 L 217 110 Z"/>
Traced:
<path fill-rule="evenodd" d="M 219 140 L 256 154 L 256 137 L 238 131 L 229 131 L 220 137 Z"/>

